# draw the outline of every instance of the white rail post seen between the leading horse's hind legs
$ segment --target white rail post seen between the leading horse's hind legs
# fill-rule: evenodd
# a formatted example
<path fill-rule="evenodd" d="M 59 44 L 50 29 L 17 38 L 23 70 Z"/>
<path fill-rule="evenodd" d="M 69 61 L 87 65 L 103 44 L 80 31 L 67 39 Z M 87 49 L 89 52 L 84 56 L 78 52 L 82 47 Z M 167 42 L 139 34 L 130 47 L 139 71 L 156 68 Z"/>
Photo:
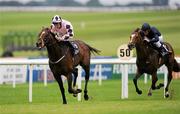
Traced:
<path fill-rule="evenodd" d="M 78 77 L 77 77 L 78 89 L 81 89 L 81 80 L 82 80 L 81 72 L 82 72 L 82 68 L 81 66 L 78 66 Z M 81 101 L 81 93 L 78 93 L 78 101 Z"/>

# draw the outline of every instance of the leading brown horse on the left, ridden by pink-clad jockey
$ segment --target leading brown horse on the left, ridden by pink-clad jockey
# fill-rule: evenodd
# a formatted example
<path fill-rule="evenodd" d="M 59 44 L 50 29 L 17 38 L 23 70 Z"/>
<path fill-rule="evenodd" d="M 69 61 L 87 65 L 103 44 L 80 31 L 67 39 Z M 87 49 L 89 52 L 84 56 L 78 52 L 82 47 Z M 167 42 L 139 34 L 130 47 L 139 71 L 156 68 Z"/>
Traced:
<path fill-rule="evenodd" d="M 90 71 L 90 56 L 91 52 L 99 53 L 100 51 L 89 46 L 88 44 L 75 40 L 73 41 L 79 47 L 79 53 L 74 55 L 72 54 L 72 46 L 69 41 L 57 41 L 55 35 L 51 33 L 49 28 L 43 28 L 39 33 L 39 39 L 36 43 L 38 48 L 47 48 L 48 57 L 49 57 L 49 67 L 59 84 L 61 90 L 63 104 L 67 104 L 65 97 L 65 90 L 63 87 L 63 82 L 61 75 L 66 76 L 68 81 L 68 92 L 72 94 L 80 93 L 80 89 L 72 88 L 72 73 L 75 75 L 74 84 L 76 83 L 77 78 L 77 65 L 81 65 L 85 71 L 85 88 L 84 88 L 84 99 L 88 100 L 87 94 L 87 84 L 89 81 L 89 71 Z"/>

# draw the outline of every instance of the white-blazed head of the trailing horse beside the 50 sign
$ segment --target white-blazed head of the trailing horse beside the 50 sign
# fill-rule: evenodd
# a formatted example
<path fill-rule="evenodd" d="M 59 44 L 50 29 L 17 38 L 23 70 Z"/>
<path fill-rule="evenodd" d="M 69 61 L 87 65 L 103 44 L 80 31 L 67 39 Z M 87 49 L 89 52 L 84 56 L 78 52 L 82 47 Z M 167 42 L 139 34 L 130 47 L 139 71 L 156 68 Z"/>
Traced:
<path fill-rule="evenodd" d="M 141 30 L 137 28 L 134 32 L 131 33 L 130 35 L 130 41 L 128 43 L 128 48 L 132 50 L 133 48 L 136 47 L 136 45 L 140 45 L 142 41 L 142 36 L 141 36 Z"/>

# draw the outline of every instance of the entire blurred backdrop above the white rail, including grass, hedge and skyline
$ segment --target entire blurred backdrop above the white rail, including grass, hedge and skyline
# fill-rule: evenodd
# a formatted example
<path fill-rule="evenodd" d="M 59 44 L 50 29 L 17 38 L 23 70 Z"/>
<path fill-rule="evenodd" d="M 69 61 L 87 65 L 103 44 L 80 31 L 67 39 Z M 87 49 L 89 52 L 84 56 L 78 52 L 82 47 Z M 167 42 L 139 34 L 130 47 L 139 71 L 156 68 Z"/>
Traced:
<path fill-rule="evenodd" d="M 74 39 L 102 50 L 101 56 L 116 56 L 144 22 L 156 26 L 180 55 L 179 9 L 179 0 L 0 0 L 0 54 L 46 57 L 35 42 L 42 26 L 50 26 L 58 14 L 73 24 Z"/>

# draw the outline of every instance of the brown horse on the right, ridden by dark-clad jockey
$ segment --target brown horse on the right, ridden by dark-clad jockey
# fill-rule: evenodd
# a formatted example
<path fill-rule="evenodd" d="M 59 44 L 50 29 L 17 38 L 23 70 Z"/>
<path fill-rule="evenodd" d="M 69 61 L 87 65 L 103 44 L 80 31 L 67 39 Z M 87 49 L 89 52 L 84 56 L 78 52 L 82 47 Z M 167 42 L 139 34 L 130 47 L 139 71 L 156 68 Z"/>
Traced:
<path fill-rule="evenodd" d="M 165 46 L 169 51 L 172 53 L 167 56 L 167 59 L 162 58 L 160 54 L 154 50 L 151 46 L 147 45 L 144 38 L 141 35 L 141 30 L 137 28 L 134 32 L 132 32 L 130 36 L 130 42 L 128 44 L 129 49 L 136 48 L 136 54 L 137 54 L 137 72 L 133 79 L 136 92 L 138 94 L 142 94 L 142 91 L 137 86 L 137 80 L 138 78 L 144 74 L 150 74 L 152 75 L 152 85 L 149 89 L 148 95 L 152 95 L 152 90 L 160 89 L 164 86 L 164 84 L 160 83 L 158 86 L 156 86 L 156 82 L 158 80 L 157 78 L 157 69 L 165 64 L 165 66 L 168 69 L 168 82 L 165 87 L 165 97 L 169 97 L 168 87 L 172 80 L 172 71 L 179 72 L 180 71 L 180 65 L 177 63 L 177 61 L 174 58 L 174 51 L 172 46 L 169 43 L 164 42 Z"/>

